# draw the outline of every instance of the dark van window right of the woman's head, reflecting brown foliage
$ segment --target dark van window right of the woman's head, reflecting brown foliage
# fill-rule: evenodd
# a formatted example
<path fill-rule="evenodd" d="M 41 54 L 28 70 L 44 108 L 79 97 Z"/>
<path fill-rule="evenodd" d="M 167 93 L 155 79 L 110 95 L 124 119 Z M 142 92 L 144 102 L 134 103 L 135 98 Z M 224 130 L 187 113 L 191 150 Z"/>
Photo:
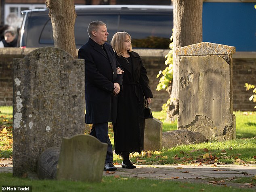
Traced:
<path fill-rule="evenodd" d="M 120 29 L 132 36 L 132 47 L 168 49 L 173 19 L 170 15 L 121 15 Z M 167 38 L 168 37 L 168 38 Z"/>

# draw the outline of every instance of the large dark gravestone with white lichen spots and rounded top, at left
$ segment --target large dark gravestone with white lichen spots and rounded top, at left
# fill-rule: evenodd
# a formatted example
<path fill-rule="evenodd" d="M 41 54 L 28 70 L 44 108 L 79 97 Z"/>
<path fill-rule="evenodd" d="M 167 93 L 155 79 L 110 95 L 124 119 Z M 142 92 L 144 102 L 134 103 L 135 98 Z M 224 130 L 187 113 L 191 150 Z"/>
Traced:
<path fill-rule="evenodd" d="M 36 171 L 39 155 L 84 133 L 84 60 L 59 48 L 13 59 L 13 175 Z"/>

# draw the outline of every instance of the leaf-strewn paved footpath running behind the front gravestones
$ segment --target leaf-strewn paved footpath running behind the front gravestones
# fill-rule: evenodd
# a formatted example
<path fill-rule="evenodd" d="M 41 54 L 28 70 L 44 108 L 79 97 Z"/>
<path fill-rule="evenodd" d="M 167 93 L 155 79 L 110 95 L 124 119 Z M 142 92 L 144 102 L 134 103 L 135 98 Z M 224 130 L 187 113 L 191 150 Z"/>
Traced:
<path fill-rule="evenodd" d="M 196 182 L 227 185 L 242 188 L 256 186 L 231 181 L 240 177 L 256 177 L 256 165 L 136 165 L 136 169 L 124 169 L 115 165 L 116 171 L 103 171 L 103 175 L 115 177 L 138 177 L 168 179 L 178 182 Z M 12 173 L 11 159 L 0 159 L 0 172 Z"/>

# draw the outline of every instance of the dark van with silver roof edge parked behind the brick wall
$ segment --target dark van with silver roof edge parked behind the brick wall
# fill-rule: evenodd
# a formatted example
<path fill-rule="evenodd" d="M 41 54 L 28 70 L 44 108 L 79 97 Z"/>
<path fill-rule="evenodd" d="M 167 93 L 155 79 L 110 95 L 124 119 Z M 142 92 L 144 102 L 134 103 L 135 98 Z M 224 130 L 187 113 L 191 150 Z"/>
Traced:
<path fill-rule="evenodd" d="M 18 46 L 21 48 L 53 46 L 52 24 L 48 9 L 25 10 Z M 133 48 L 168 49 L 173 28 L 172 6 L 85 5 L 76 6 L 75 39 L 80 48 L 88 40 L 91 21 L 107 24 L 108 41 L 118 31 L 132 36 Z"/>

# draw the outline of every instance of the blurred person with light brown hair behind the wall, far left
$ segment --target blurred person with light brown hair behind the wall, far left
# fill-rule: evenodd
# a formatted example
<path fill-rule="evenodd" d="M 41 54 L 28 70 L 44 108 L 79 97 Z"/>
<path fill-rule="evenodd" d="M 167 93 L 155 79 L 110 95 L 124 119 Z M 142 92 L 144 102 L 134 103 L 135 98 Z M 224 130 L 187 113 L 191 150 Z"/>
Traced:
<path fill-rule="evenodd" d="M 0 48 L 17 47 L 17 31 L 13 28 L 4 31 L 4 39 L 0 41 Z"/>

